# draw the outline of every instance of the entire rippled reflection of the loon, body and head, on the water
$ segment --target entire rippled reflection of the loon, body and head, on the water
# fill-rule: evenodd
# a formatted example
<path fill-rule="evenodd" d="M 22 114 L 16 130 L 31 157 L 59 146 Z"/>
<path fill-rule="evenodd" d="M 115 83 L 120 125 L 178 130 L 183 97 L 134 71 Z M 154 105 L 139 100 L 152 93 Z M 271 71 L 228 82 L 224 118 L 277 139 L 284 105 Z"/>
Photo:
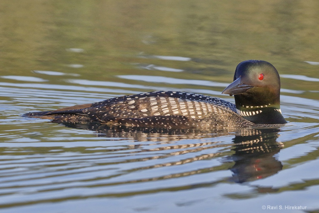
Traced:
<path fill-rule="evenodd" d="M 187 164 L 199 160 L 209 160 L 215 157 L 221 157 L 221 162 L 226 165 L 230 165 L 229 170 L 232 172 L 232 177 L 227 179 L 222 179 L 217 182 L 232 181 L 236 183 L 243 183 L 248 181 L 253 181 L 256 179 L 262 179 L 276 174 L 278 171 L 282 170 L 283 165 L 278 161 L 277 153 L 280 149 L 284 147 L 284 144 L 277 142 L 279 137 L 278 128 L 259 128 L 259 129 L 243 129 L 237 132 L 225 132 L 225 131 L 201 131 L 198 129 L 188 129 L 188 130 L 169 130 L 169 129 L 157 129 L 157 128 L 128 128 L 128 127 L 110 127 L 103 124 L 92 123 L 92 124 L 73 124 L 73 123 L 63 123 L 66 127 L 78 128 L 92 130 L 98 133 L 100 137 L 108 138 L 125 138 L 132 139 L 134 141 L 156 141 L 161 144 L 171 144 L 172 141 L 179 141 L 185 139 L 203 139 L 203 138 L 216 138 L 223 135 L 234 135 L 232 139 L 234 143 L 225 144 L 220 143 L 220 141 L 214 142 L 203 142 L 203 143 L 190 143 L 190 144 L 180 144 L 180 145 L 167 145 L 161 146 L 153 149 L 145 149 L 141 147 L 143 143 L 135 143 L 127 147 L 132 151 L 138 152 L 154 152 L 161 150 L 170 149 L 170 153 L 154 154 L 151 157 L 145 157 L 145 159 L 139 159 L 139 161 L 147 161 L 152 159 L 166 158 L 168 156 L 183 155 L 190 152 L 197 152 L 200 155 L 191 158 L 184 158 L 178 161 L 172 161 L 169 163 L 159 163 L 152 164 L 146 167 L 135 168 L 134 170 L 146 170 L 152 168 L 159 168 L 164 166 L 174 166 Z M 207 140 L 206 140 L 207 141 Z M 212 149 L 212 148 L 231 148 L 227 152 L 223 150 L 222 152 L 215 152 L 210 154 L 201 154 L 202 150 Z M 176 150 L 176 151 L 174 151 Z M 207 151 L 205 151 L 207 153 Z M 232 153 L 232 154 L 229 154 Z M 173 158 L 174 160 L 175 158 Z M 136 161 L 133 159 L 132 161 Z M 214 166 L 211 168 L 201 168 L 188 172 L 174 173 L 169 175 L 163 175 L 160 177 L 137 179 L 126 181 L 125 183 L 133 182 L 145 182 L 145 181 L 155 181 L 159 179 L 169 179 L 177 177 L 185 177 L 189 175 L 195 175 L 199 173 L 206 173 L 218 170 L 225 170 L 225 167 Z M 215 184 L 217 182 L 211 183 Z M 122 183 L 123 184 L 123 183 Z M 200 187 L 199 184 L 197 187 Z M 205 184 L 206 185 L 206 184 Z M 196 187 L 196 186 L 192 186 Z"/>

